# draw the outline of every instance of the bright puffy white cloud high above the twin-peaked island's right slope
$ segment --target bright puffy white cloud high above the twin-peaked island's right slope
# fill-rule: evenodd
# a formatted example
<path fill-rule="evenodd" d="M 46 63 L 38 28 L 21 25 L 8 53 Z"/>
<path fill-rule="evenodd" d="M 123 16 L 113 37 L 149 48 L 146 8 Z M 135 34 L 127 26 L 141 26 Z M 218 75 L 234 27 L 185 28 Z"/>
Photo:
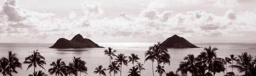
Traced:
<path fill-rule="evenodd" d="M 98 2 L 85 2 L 81 4 L 82 10 L 84 10 L 86 18 L 95 18 L 103 14 L 103 10 Z"/>

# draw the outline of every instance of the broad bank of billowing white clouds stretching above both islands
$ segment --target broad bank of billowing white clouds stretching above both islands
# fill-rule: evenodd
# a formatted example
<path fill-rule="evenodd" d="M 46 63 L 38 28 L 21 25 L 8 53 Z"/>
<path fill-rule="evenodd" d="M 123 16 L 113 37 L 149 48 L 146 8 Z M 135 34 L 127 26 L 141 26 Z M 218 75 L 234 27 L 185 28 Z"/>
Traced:
<path fill-rule="evenodd" d="M 182 1 L 189 4 L 202 2 Z M 6 0 L 0 8 L 0 42 L 45 42 L 44 39 L 70 38 L 78 33 L 85 38 L 104 39 L 168 38 L 174 34 L 188 38 L 241 37 L 244 34 L 234 31 L 256 32 L 256 8 L 254 11 L 234 11 L 233 8 L 243 7 L 238 0 L 215 0 L 211 5 L 213 8 L 229 9 L 222 16 L 205 10 L 158 11 L 170 6 L 166 0 L 152 0 L 147 6 L 142 3 L 141 8 L 136 8 L 142 9 L 138 16 L 120 12 L 113 19 L 98 19 L 106 10 L 100 3 L 92 1 L 81 4 L 82 17 L 70 10 L 69 15 L 56 18 L 54 13 L 23 9 L 18 6 L 18 0 Z"/>

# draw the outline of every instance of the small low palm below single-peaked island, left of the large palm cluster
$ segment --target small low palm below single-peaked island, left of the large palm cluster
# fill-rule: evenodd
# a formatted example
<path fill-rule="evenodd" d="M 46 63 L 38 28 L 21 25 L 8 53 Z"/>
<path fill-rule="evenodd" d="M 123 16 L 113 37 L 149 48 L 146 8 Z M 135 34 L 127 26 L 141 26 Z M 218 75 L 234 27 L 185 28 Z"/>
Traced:
<path fill-rule="evenodd" d="M 177 68 L 176 72 L 181 71 L 182 76 L 187 76 L 187 72 L 189 70 L 188 66 L 189 66 L 189 63 L 187 61 L 185 61 L 185 62 L 181 61 L 180 65 L 179 65 L 179 68 Z"/>

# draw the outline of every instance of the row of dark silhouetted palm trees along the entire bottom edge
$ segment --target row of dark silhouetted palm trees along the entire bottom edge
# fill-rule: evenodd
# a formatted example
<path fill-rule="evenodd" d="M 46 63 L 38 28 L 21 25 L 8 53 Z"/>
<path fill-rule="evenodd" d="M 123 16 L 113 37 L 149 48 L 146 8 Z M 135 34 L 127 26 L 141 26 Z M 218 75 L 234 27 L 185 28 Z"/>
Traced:
<path fill-rule="evenodd" d="M 144 63 L 146 63 L 146 61 L 152 63 L 152 76 L 154 76 L 154 72 L 157 72 L 159 76 L 163 76 L 164 73 L 166 76 L 188 76 L 188 72 L 191 73 L 191 76 L 215 76 L 216 73 L 224 73 L 224 71 L 226 71 L 225 76 L 235 76 L 233 68 L 237 68 L 240 73 L 244 72 L 243 76 L 256 76 L 256 58 L 253 59 L 252 54 L 244 52 L 238 57 L 230 55 L 230 57 L 220 58 L 217 57 L 217 50 L 217 47 L 211 48 L 209 46 L 205 47 L 204 51 L 200 52 L 197 57 L 193 54 L 189 54 L 184 57 L 184 61 L 180 62 L 179 68 L 177 68 L 175 73 L 172 71 L 166 73 L 164 66 L 170 66 L 171 56 L 168 54 L 168 49 L 161 46 L 158 42 L 149 47 L 145 52 Z M 108 70 L 110 76 L 112 76 L 111 74 L 115 76 L 118 72 L 120 72 L 120 76 L 122 76 L 122 66 L 127 66 L 128 63 L 131 63 L 133 66 L 129 69 L 129 75 L 127 76 L 141 76 L 141 72 L 146 70 L 143 67 L 144 64 L 138 62 L 140 59 L 138 55 L 132 53 L 127 57 L 124 54 L 116 55 L 116 52 L 116 50 L 108 47 L 108 49 L 104 51 L 104 54 L 109 57 L 110 61 L 108 68 L 98 65 L 98 67 L 95 68 L 94 74 L 106 76 L 106 71 Z M 31 55 L 25 57 L 23 64 L 28 64 L 26 70 L 30 67 L 34 67 L 34 72 L 28 76 L 81 76 L 81 73 L 87 74 L 86 62 L 82 60 L 81 57 L 73 57 L 73 61 L 68 65 L 61 60 L 61 58 L 57 59 L 56 62 L 53 61 L 50 64 L 51 68 L 48 69 L 49 74 L 42 72 L 42 70 L 36 71 L 37 67 L 41 67 L 45 70 L 44 65 L 46 65 L 46 61 L 38 50 L 34 50 Z M 155 61 L 157 62 L 157 66 L 154 71 L 153 64 Z M 233 65 L 233 61 L 237 64 Z M 227 66 L 227 64 L 232 65 Z M 228 67 L 232 68 L 231 72 L 228 72 Z M 8 57 L 2 57 L 0 59 L 0 72 L 3 76 L 12 76 L 12 73 L 18 73 L 16 68 L 22 68 L 22 63 L 19 62 L 17 54 L 13 54 L 12 51 L 9 51 Z"/>

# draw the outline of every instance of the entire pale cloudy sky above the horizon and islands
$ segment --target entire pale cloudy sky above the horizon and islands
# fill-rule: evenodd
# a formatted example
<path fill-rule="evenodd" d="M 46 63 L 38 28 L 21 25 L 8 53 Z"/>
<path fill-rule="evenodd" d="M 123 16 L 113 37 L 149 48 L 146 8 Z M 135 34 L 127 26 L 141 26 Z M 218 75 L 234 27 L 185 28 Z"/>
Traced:
<path fill-rule="evenodd" d="M 0 0 L 1 43 L 256 43 L 256 0 Z"/>

